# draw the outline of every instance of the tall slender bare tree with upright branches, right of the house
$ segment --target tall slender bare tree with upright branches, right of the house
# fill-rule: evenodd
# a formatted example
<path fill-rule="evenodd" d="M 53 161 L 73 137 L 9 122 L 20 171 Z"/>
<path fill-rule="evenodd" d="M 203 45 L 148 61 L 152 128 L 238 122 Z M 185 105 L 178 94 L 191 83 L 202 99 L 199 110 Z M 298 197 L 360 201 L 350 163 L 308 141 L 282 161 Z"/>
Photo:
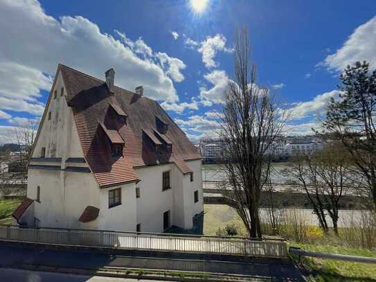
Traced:
<path fill-rule="evenodd" d="M 224 97 L 220 136 L 226 143 L 224 165 L 232 186 L 226 190 L 251 238 L 261 238 L 260 192 L 269 179 L 267 149 L 285 124 L 270 91 L 256 85 L 256 67 L 250 62 L 246 28 L 235 33 L 234 74 Z"/>

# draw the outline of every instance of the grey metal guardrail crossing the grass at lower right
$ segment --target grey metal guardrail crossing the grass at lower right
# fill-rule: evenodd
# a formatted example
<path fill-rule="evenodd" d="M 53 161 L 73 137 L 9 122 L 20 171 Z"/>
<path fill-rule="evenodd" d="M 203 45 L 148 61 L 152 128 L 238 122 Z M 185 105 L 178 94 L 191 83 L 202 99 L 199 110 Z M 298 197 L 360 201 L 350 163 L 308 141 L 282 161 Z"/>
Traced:
<path fill-rule="evenodd" d="M 368 258 L 366 256 L 348 256 L 346 254 L 329 254 L 329 253 L 322 253 L 322 252 L 311 252 L 305 251 L 298 247 L 290 247 L 289 248 L 290 254 L 295 254 L 299 256 L 299 261 L 301 256 L 312 256 L 314 258 L 328 258 L 337 261 L 352 261 L 355 263 L 375 263 L 376 258 Z"/>

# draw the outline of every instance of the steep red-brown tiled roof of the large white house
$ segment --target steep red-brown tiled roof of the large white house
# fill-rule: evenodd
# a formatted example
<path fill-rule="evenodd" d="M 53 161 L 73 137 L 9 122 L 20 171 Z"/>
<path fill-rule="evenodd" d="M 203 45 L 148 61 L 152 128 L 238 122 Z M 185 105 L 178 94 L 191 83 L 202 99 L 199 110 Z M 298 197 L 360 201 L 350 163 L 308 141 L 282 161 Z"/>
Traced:
<path fill-rule="evenodd" d="M 100 186 L 138 181 L 134 170 L 138 166 L 174 162 L 183 173 L 188 173 L 190 168 L 186 161 L 200 158 L 193 143 L 155 100 L 116 86 L 111 93 L 102 80 L 62 64 L 59 69 L 66 86 L 66 101 L 73 109 L 84 157 Z M 127 113 L 127 122 L 116 123 L 111 118 L 111 112 L 114 112 L 111 108 L 117 113 L 120 109 Z M 164 155 L 156 155 L 154 145 L 143 134 L 143 130 L 156 131 L 158 119 L 168 125 L 162 141 L 173 143 L 172 152 Z M 117 130 L 125 142 L 124 157 L 111 157 L 111 148 L 109 142 L 104 141 L 106 133 L 100 123 L 109 130 Z"/>

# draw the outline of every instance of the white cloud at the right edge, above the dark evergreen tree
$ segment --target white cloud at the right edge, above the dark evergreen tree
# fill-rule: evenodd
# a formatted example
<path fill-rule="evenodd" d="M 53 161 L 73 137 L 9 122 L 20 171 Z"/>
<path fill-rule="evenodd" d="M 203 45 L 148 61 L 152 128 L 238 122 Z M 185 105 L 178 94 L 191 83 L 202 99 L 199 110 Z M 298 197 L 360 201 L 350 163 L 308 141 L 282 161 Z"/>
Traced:
<path fill-rule="evenodd" d="M 350 35 L 343 46 L 325 58 L 328 69 L 343 71 L 348 64 L 366 60 L 376 68 L 376 17 L 362 24 Z"/>

